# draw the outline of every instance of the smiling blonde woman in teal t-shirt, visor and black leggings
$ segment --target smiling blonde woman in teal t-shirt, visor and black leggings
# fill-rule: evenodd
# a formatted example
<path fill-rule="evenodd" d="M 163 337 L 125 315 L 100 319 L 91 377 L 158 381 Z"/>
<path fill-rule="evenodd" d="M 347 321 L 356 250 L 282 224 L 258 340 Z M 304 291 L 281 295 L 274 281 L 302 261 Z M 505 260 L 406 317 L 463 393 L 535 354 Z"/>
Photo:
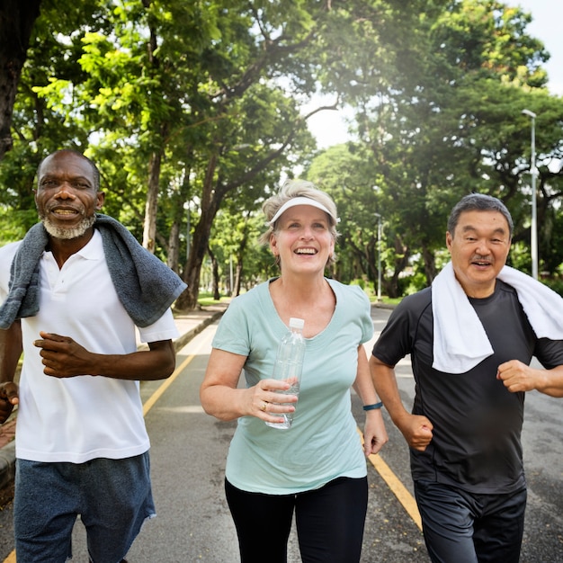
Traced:
<path fill-rule="evenodd" d="M 361 557 L 367 481 L 351 386 L 369 406 L 364 454 L 380 451 L 388 439 L 362 345 L 373 332 L 370 301 L 359 287 L 325 277 L 338 237 L 328 194 L 290 180 L 263 210 L 268 229 L 261 241 L 281 273 L 232 300 L 201 385 L 208 414 L 239 419 L 225 487 L 241 561 L 268 553 L 271 563 L 286 563 L 295 512 L 304 561 L 354 563 Z M 299 397 L 281 394 L 289 384 L 272 378 L 291 317 L 304 320 L 306 338 Z M 286 413 L 293 413 L 290 429 L 264 424 L 279 424 Z"/>

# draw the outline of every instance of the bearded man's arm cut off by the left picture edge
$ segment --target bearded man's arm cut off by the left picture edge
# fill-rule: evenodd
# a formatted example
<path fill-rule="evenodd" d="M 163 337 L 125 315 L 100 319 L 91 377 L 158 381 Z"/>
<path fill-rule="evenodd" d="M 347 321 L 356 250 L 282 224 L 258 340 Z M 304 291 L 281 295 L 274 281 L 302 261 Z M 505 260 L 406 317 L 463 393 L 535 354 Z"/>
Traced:
<path fill-rule="evenodd" d="M 18 386 L 14 383 L 15 370 L 22 355 L 22 324 L 13 322 L 6 330 L 0 330 L 0 424 L 12 414 L 19 403 Z"/>

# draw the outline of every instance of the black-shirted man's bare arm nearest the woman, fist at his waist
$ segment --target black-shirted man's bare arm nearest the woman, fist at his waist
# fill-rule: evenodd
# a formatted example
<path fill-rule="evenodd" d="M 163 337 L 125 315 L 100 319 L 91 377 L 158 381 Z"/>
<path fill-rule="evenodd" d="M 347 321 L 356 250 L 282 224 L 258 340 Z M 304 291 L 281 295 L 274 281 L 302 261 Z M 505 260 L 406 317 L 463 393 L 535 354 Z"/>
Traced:
<path fill-rule="evenodd" d="M 397 376 L 393 366 L 381 362 L 375 356 L 370 358 L 371 377 L 393 423 L 405 436 L 408 445 L 415 450 L 424 451 L 432 441 L 433 425 L 426 416 L 411 415 L 403 406 Z"/>

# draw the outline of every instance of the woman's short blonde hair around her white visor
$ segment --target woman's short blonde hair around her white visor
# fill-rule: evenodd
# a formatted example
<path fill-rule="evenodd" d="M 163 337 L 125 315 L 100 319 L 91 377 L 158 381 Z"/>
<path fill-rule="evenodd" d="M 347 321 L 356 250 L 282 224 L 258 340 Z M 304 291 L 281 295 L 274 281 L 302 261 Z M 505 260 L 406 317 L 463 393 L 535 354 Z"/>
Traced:
<path fill-rule="evenodd" d="M 307 180 L 286 180 L 280 188 L 280 191 L 277 192 L 272 197 L 268 198 L 264 201 L 262 206 L 262 210 L 264 211 L 264 215 L 266 217 L 266 223 L 269 225 L 268 229 L 260 236 L 259 241 L 263 245 L 267 245 L 270 242 L 270 237 L 278 231 L 277 224 L 278 220 L 276 219 L 272 224 L 271 221 L 281 206 L 290 201 L 293 198 L 297 197 L 305 197 L 310 200 L 317 201 L 329 211 L 328 219 L 330 222 L 329 232 L 332 235 L 334 241 L 339 236 L 338 231 L 336 230 L 336 219 L 338 217 L 338 213 L 336 211 L 336 204 L 335 201 L 328 195 L 328 193 L 319 190 L 317 186 L 312 183 L 308 182 Z M 336 260 L 336 255 L 333 253 L 332 256 L 329 257 L 326 265 L 333 264 Z"/>

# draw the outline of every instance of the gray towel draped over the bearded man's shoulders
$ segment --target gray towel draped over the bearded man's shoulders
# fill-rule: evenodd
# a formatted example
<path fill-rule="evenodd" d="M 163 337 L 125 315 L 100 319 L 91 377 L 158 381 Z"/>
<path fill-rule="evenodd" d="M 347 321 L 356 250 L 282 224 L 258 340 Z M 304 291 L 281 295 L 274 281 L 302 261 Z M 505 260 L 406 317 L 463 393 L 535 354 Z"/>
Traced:
<path fill-rule="evenodd" d="M 102 235 L 105 259 L 121 305 L 137 326 L 156 322 L 187 285 L 139 245 L 116 219 L 97 213 L 94 227 Z M 23 238 L 10 269 L 10 291 L 0 307 L 0 328 L 9 328 L 17 318 L 37 315 L 40 257 L 48 243 L 42 223 L 31 227 Z"/>

